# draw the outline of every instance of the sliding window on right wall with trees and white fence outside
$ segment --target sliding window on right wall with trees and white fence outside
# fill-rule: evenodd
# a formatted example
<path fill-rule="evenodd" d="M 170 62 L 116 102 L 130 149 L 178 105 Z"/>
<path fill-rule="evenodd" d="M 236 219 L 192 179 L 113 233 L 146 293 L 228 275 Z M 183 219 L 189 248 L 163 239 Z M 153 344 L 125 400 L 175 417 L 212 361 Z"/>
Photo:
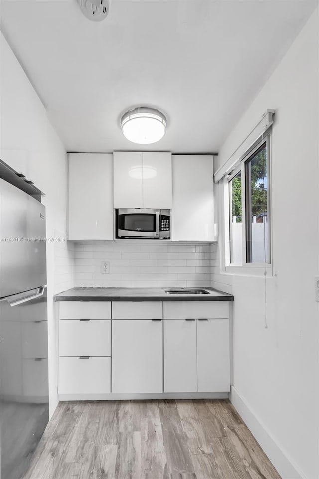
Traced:
<path fill-rule="evenodd" d="M 229 265 L 269 263 L 269 135 L 228 179 Z"/>

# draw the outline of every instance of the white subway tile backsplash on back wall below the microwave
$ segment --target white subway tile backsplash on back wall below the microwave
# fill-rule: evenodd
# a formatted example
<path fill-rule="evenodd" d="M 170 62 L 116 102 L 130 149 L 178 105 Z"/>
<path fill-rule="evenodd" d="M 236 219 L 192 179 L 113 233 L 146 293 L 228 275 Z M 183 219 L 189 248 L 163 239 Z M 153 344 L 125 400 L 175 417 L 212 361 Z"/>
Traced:
<path fill-rule="evenodd" d="M 75 243 L 75 286 L 195 287 L 210 285 L 209 244 Z M 101 262 L 110 273 L 101 273 Z"/>

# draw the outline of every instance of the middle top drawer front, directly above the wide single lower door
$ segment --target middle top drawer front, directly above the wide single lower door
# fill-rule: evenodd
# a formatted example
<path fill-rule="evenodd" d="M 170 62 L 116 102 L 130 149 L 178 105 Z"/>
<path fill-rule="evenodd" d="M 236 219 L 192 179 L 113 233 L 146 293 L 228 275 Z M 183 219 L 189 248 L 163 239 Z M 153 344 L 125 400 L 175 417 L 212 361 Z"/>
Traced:
<path fill-rule="evenodd" d="M 114 301 L 112 319 L 162 319 L 161 301 Z"/>

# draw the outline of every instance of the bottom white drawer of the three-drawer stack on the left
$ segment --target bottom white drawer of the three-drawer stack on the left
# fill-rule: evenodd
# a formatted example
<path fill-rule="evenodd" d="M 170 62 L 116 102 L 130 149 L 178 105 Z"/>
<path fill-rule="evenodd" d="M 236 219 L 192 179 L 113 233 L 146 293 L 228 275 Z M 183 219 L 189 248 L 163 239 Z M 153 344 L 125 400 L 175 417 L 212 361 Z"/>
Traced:
<path fill-rule="evenodd" d="M 59 358 L 59 394 L 107 394 L 111 358 Z"/>

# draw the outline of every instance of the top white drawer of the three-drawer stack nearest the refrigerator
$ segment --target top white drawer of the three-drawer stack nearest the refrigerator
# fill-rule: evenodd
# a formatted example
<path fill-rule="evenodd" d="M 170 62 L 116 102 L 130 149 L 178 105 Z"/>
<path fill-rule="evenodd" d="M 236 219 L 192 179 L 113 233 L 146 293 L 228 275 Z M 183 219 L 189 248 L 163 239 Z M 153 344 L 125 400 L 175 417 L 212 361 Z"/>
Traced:
<path fill-rule="evenodd" d="M 111 319 L 109 301 L 60 301 L 60 319 Z"/>

